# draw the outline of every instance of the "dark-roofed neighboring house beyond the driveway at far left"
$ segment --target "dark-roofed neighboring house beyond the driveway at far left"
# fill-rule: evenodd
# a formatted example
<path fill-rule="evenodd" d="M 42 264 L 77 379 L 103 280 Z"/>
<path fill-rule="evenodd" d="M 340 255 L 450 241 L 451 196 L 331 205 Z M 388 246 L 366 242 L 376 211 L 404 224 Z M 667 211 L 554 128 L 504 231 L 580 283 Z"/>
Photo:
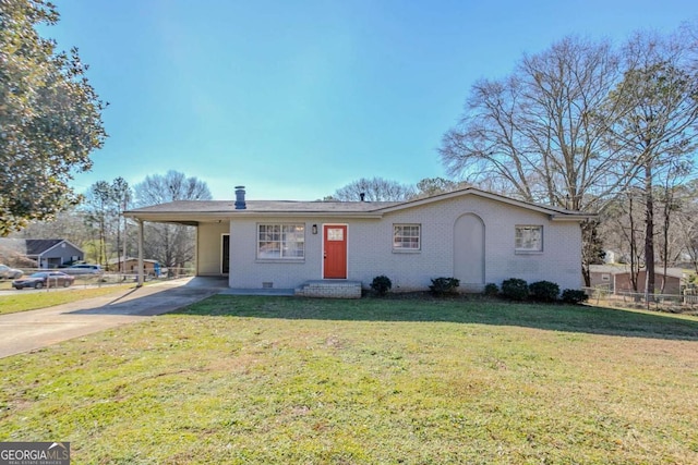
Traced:
<path fill-rule="evenodd" d="M 64 238 L 0 238 L 0 249 L 3 254 L 33 260 L 37 268 L 57 268 L 85 256 Z"/>

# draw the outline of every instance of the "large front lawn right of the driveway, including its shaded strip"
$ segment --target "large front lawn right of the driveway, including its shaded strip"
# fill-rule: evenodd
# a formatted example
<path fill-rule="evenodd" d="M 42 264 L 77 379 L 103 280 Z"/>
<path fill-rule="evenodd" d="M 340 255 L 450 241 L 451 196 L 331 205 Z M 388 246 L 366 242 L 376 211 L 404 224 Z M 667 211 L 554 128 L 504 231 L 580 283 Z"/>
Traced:
<path fill-rule="evenodd" d="M 75 464 L 698 463 L 695 317 L 214 296 L 0 371 Z"/>

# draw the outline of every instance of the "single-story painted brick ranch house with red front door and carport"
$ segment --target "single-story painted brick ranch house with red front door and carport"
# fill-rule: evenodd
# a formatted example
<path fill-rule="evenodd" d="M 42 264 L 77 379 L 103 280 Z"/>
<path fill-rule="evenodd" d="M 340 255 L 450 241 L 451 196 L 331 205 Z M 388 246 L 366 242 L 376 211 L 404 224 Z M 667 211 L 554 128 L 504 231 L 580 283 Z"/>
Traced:
<path fill-rule="evenodd" d="M 593 217 L 471 187 L 372 203 L 245 200 L 242 186 L 234 201 L 179 200 L 124 215 L 139 221 L 141 237 L 144 221 L 195 225 L 197 276 L 298 294 L 342 283 L 360 294 L 381 274 L 393 291 L 425 290 L 438 277 L 459 279 L 461 292 L 509 278 L 579 289 L 580 222 Z"/>

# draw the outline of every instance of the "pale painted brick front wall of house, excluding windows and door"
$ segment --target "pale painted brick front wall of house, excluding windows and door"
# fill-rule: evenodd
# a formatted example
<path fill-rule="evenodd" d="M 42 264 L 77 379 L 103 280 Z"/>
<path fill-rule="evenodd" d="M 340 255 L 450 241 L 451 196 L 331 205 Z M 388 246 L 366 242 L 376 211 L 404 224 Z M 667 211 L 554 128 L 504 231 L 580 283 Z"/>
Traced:
<path fill-rule="evenodd" d="M 577 222 L 552 222 L 546 215 L 468 195 L 386 213 L 383 219 L 333 218 L 252 218 L 230 223 L 230 286 L 258 289 L 273 282 L 276 289 L 294 289 L 309 280 L 322 279 L 322 224 L 348 224 L 348 279 L 368 287 L 374 277 L 385 274 L 394 291 L 424 290 L 432 278 L 454 276 L 454 225 L 466 213 L 477 215 L 484 223 L 484 282 L 501 284 L 508 278 L 528 282 L 549 280 L 561 289 L 581 285 L 581 231 Z M 256 225 L 260 222 L 302 222 L 305 224 L 305 259 L 300 262 L 256 259 Z M 393 224 L 419 223 L 422 247 L 418 253 L 393 252 Z M 311 233 L 312 224 L 320 232 Z M 543 227 L 541 254 L 515 254 L 517 224 Z M 216 235 L 209 225 L 200 227 L 200 257 L 206 252 L 208 237 Z M 215 228 L 215 227 L 214 227 Z M 216 243 L 216 247 L 219 245 Z M 201 258 L 200 258 L 201 259 Z M 210 261 L 207 258 L 207 264 Z M 204 269 L 203 264 L 200 269 Z M 205 269 L 213 269 L 206 265 Z M 467 283 L 464 283 L 464 286 Z"/>

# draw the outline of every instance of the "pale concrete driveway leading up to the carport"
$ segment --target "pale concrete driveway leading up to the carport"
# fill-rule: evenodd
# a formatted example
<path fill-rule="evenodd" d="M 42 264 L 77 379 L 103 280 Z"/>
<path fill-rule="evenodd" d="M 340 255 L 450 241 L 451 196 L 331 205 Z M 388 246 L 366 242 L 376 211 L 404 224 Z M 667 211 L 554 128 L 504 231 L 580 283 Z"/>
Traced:
<path fill-rule="evenodd" d="M 228 287 L 218 278 L 184 278 L 39 310 L 0 315 L 0 357 L 161 315 Z M 2 298 L 0 297 L 0 305 Z"/>

